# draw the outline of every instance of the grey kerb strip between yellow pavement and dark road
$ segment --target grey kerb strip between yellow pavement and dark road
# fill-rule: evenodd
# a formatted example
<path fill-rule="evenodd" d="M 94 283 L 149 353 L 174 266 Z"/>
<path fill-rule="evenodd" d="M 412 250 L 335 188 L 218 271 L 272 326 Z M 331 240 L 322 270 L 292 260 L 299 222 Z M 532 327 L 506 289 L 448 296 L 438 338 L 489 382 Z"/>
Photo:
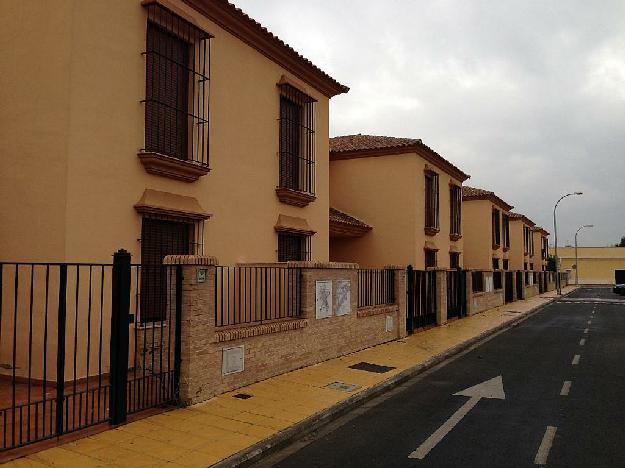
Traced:
<path fill-rule="evenodd" d="M 386 393 L 387 391 L 398 387 L 412 377 L 415 377 L 431 369 L 432 367 L 448 360 L 451 357 L 456 356 L 457 354 L 460 354 L 466 349 L 471 348 L 472 346 L 475 346 L 482 341 L 487 341 L 487 339 L 493 337 L 493 335 L 496 335 L 504 330 L 519 325 L 521 322 L 524 322 L 534 314 L 538 313 L 540 310 L 556 302 L 558 299 L 566 297 L 569 294 L 573 293 L 574 291 L 576 291 L 576 289 L 577 288 L 559 297 L 549 298 L 549 300 L 544 302 L 543 304 L 537 305 L 527 312 L 523 312 L 518 317 L 515 317 L 506 323 L 499 324 L 489 330 L 483 331 L 482 333 L 472 338 L 469 338 L 466 341 L 463 341 L 462 343 L 458 343 L 457 345 L 452 346 L 451 348 L 448 348 L 435 356 L 432 356 L 430 359 L 420 364 L 406 369 L 399 374 L 396 374 L 393 377 L 388 378 L 387 380 L 384 380 L 372 387 L 369 387 L 368 389 L 363 390 L 356 395 L 352 395 L 351 397 L 343 401 L 340 401 L 324 410 L 321 410 L 318 413 L 315 413 L 312 416 L 309 416 L 308 418 L 298 423 L 295 423 L 294 425 L 289 426 L 288 428 L 283 429 L 282 431 L 277 432 L 276 434 L 269 436 L 266 439 L 256 442 L 254 445 L 251 445 L 229 456 L 228 458 L 225 458 L 210 466 L 213 468 L 233 468 L 237 466 L 250 466 L 251 464 L 261 460 L 262 458 L 265 458 L 266 456 L 275 453 L 281 448 L 286 447 L 290 443 L 301 439 L 303 436 L 314 432 L 323 425 L 328 424 L 335 419 L 338 419 L 341 416 L 345 415 L 346 413 L 352 411 L 353 409 L 364 405 L 369 400 L 372 400 L 382 395 L 383 393 Z"/>

